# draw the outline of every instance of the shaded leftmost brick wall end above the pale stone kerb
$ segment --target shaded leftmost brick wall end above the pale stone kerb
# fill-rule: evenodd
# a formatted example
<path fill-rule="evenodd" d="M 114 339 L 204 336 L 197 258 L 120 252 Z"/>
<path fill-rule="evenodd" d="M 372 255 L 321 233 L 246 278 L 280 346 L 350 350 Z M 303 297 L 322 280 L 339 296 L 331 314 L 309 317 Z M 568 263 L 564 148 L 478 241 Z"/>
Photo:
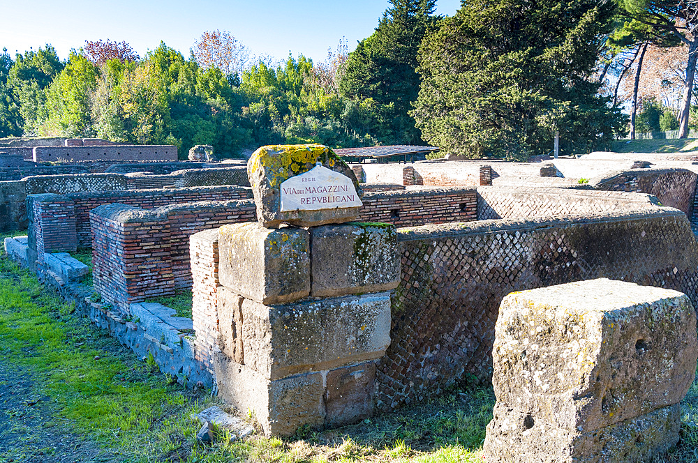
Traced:
<path fill-rule="evenodd" d="M 41 259 L 44 252 L 75 252 L 75 211 L 65 196 L 46 193 L 27 197 L 29 248 Z"/>

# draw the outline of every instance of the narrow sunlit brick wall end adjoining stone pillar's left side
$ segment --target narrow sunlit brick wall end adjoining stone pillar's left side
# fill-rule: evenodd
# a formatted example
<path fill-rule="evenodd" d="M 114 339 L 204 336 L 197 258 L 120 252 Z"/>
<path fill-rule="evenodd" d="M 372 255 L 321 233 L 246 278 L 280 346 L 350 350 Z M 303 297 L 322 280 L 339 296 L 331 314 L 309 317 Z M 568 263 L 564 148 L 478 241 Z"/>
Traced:
<path fill-rule="evenodd" d="M 218 347 L 218 229 L 191 235 L 192 301 L 195 358 L 213 372 L 213 353 Z"/>

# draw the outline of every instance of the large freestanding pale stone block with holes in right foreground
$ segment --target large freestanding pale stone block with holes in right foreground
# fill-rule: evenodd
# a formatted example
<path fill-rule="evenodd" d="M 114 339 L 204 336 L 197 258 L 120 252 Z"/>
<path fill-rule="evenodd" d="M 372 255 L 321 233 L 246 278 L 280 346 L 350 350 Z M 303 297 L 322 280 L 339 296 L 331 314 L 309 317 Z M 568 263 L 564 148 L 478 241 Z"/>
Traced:
<path fill-rule="evenodd" d="M 697 356 L 695 310 L 678 291 L 600 278 L 512 293 L 496 324 L 484 451 L 501 462 L 662 453 L 678 441 Z"/>

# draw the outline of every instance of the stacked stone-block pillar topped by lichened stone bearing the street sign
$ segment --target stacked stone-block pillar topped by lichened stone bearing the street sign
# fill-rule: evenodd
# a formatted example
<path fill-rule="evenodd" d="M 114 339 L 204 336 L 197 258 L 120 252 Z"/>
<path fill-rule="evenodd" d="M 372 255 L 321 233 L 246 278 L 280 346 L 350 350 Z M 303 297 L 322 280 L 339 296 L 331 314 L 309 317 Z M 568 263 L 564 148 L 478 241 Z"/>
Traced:
<path fill-rule="evenodd" d="M 195 291 L 206 295 L 193 311 L 209 317 L 195 325 L 218 320 L 209 351 L 218 394 L 253 413 L 267 434 L 367 418 L 376 360 L 390 344 L 389 291 L 400 280 L 396 229 L 337 223 L 359 212 L 344 199 L 358 196 L 356 179 L 325 147 L 265 147 L 249 169 L 260 222 L 224 225 L 217 243 L 206 232 L 191 239 L 199 260 L 211 264 L 216 246 L 220 255 L 219 282 L 193 270 Z M 333 185 L 345 184 L 336 199 Z M 315 206 L 328 201 L 337 205 Z M 198 344 L 200 358 L 209 346 L 207 337 Z"/>

